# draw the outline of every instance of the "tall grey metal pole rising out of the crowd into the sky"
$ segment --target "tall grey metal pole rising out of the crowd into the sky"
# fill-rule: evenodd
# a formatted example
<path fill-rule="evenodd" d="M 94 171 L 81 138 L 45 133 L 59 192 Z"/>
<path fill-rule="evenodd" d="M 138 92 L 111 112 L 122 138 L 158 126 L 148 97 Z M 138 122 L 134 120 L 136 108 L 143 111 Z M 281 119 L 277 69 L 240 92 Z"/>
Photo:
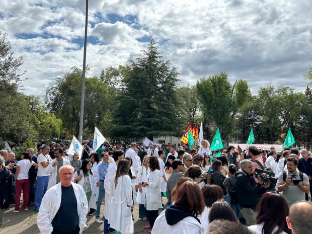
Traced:
<path fill-rule="evenodd" d="M 81 143 L 83 142 L 83 127 L 84 127 L 87 32 L 88 32 L 88 0 L 86 0 L 86 23 L 85 23 L 84 63 L 83 63 L 83 77 L 82 77 L 81 102 L 80 102 L 80 122 L 79 122 L 79 135 L 78 135 L 78 140 L 79 140 Z"/>

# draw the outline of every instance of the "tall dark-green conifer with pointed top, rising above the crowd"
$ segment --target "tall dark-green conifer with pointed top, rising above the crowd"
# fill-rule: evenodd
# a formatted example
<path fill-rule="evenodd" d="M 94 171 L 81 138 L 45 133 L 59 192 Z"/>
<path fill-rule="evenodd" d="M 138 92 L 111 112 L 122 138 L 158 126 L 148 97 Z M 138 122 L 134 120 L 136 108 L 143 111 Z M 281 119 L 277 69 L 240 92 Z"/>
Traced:
<path fill-rule="evenodd" d="M 123 73 L 113 116 L 113 131 L 121 137 L 168 136 L 179 129 L 181 113 L 176 90 L 178 72 L 163 61 L 154 40 L 144 57 Z"/>

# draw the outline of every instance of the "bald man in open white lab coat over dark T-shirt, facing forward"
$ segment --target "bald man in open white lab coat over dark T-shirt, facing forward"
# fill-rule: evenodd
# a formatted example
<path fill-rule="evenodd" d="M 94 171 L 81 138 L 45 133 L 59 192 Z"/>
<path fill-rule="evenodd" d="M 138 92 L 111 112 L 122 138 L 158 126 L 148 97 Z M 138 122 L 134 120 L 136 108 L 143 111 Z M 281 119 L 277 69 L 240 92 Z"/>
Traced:
<path fill-rule="evenodd" d="M 60 183 L 50 188 L 42 198 L 37 225 L 42 234 L 79 234 L 86 226 L 88 200 L 84 189 L 71 183 L 73 167 L 59 169 Z M 65 222 L 64 222 L 65 220 Z"/>

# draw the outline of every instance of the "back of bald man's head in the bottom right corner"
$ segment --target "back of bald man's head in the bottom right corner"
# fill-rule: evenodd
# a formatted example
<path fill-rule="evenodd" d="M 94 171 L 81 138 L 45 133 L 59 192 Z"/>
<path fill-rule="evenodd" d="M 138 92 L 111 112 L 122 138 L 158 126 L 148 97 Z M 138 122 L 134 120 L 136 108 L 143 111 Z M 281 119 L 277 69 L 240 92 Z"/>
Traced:
<path fill-rule="evenodd" d="M 286 217 L 287 226 L 292 234 L 307 234 L 312 230 L 312 203 L 297 201 L 289 208 L 289 216 Z"/>

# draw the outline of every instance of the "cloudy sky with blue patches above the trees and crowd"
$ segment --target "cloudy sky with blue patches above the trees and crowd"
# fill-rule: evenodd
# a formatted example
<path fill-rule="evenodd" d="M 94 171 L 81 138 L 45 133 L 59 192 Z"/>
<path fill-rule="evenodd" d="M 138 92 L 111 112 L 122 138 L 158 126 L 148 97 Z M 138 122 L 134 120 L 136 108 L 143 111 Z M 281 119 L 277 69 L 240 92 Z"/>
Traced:
<path fill-rule="evenodd" d="M 89 76 L 141 56 L 153 38 L 181 85 L 220 71 L 231 82 L 303 91 L 312 65 L 312 1 L 89 0 Z M 23 56 L 26 95 L 83 63 L 85 0 L 2 0 L 0 30 Z"/>

